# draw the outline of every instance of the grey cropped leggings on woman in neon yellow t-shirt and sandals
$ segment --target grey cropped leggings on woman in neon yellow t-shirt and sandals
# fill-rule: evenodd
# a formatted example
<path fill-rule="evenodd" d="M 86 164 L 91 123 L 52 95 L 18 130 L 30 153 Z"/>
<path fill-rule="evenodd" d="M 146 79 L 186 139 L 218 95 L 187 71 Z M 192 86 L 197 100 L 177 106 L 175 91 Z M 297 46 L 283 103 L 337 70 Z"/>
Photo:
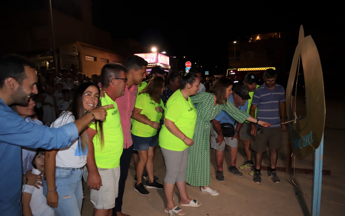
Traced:
<path fill-rule="evenodd" d="M 176 182 L 186 181 L 186 168 L 188 162 L 188 148 L 183 151 L 172 151 L 160 147 L 164 157 L 166 174 L 164 182 L 174 185 Z"/>

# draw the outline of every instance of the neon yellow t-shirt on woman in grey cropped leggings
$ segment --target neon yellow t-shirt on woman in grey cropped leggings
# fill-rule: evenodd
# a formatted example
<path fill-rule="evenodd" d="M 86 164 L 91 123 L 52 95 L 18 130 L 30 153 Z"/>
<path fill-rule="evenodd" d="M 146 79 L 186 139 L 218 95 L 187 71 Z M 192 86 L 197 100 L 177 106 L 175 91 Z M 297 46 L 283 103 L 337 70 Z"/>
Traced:
<path fill-rule="evenodd" d="M 188 97 L 183 97 L 181 91 L 176 90 L 168 99 L 165 108 L 165 119 L 174 122 L 175 125 L 187 137 L 193 139 L 197 111 Z M 173 135 L 165 124 L 159 132 L 159 146 L 172 151 L 183 151 L 188 146 L 178 137 Z"/>

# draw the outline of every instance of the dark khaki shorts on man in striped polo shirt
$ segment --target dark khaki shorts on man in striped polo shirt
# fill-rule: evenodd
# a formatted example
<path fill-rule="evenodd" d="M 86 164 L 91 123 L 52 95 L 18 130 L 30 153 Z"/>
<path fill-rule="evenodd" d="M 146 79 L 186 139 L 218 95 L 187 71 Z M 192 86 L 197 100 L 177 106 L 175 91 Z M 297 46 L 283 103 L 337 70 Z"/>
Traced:
<path fill-rule="evenodd" d="M 256 130 L 257 128 L 255 127 Z M 263 133 L 256 133 L 253 150 L 255 152 L 265 152 L 267 145 L 270 150 L 278 150 L 282 147 L 282 137 L 281 127 L 263 127 Z"/>

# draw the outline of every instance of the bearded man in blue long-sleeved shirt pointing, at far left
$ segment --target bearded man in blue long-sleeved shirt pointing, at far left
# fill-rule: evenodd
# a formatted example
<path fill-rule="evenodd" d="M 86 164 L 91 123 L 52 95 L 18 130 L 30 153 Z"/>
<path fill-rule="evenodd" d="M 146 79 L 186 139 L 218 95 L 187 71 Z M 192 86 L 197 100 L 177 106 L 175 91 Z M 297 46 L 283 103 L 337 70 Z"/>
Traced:
<path fill-rule="evenodd" d="M 20 205 L 21 146 L 44 149 L 64 148 L 74 141 L 92 120 L 105 120 L 106 106 L 92 110 L 92 114 L 87 113 L 73 123 L 60 128 L 49 128 L 26 122 L 9 107 L 12 104 L 26 106 L 32 94 L 37 93 L 37 72 L 32 61 L 20 55 L 7 55 L 0 58 L 1 215 L 22 215 Z"/>

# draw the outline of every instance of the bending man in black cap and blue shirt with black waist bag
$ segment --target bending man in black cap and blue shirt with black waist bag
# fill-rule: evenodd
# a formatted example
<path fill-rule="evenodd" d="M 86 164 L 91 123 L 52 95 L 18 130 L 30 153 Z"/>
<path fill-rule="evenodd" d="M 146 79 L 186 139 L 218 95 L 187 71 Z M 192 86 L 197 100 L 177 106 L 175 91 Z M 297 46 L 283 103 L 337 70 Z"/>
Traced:
<path fill-rule="evenodd" d="M 248 99 L 251 99 L 249 96 L 249 90 L 242 83 L 235 87 L 233 93 L 229 97 L 229 101 L 233 103 L 239 110 L 248 109 Z M 234 129 L 235 133 L 232 137 L 229 137 L 230 135 L 223 133 L 221 125 L 224 123 L 235 125 L 236 129 Z M 236 120 L 225 111 L 221 111 L 221 113 L 217 115 L 211 122 L 211 148 L 215 149 L 217 163 L 216 179 L 218 181 L 224 181 L 223 161 L 225 145 L 230 146 L 230 167 L 227 169 L 227 171 L 238 177 L 243 176 L 242 172 L 236 168 L 239 131 L 241 127 L 242 123 L 236 122 Z"/>

